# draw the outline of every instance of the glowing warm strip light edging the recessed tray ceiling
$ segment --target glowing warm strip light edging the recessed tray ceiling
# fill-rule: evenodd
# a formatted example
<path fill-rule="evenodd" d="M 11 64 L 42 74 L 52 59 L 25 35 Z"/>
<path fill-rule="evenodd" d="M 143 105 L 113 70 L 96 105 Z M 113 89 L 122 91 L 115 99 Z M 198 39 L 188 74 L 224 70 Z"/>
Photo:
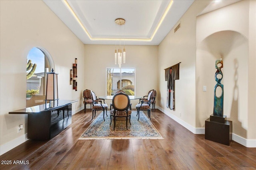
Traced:
<path fill-rule="evenodd" d="M 156 29 L 154 30 L 152 36 L 150 38 L 121 38 L 121 40 L 123 41 L 143 41 L 143 42 L 150 42 L 152 41 L 152 39 L 154 38 L 156 32 L 158 31 L 159 27 L 161 26 L 164 18 L 166 17 L 167 13 L 169 12 L 171 6 L 172 6 L 173 0 L 170 1 L 170 3 L 168 4 L 166 10 L 164 11 L 164 14 L 162 15 L 160 21 L 158 22 Z M 72 13 L 72 15 L 74 16 L 74 18 L 76 19 L 76 21 L 79 23 L 79 25 L 82 27 L 82 29 L 84 30 L 84 32 L 87 34 L 88 38 L 90 38 L 90 40 L 94 41 L 94 40 L 109 40 L 109 41 L 116 41 L 117 38 L 92 38 L 92 36 L 89 34 L 89 32 L 86 30 L 85 26 L 82 24 L 82 22 L 80 21 L 80 19 L 78 18 L 78 16 L 76 15 L 76 13 L 74 12 L 74 10 L 72 9 L 72 7 L 70 6 L 70 4 L 68 4 L 67 0 L 64 0 L 64 4 L 67 6 L 68 10 L 70 10 L 70 12 Z"/>

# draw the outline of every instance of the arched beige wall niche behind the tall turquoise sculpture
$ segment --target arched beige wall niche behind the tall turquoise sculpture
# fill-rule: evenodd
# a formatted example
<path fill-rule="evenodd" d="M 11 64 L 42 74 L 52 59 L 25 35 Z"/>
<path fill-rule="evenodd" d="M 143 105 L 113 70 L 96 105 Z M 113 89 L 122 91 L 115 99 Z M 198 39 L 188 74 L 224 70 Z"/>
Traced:
<path fill-rule="evenodd" d="M 233 133 L 246 138 L 248 128 L 248 39 L 239 32 L 214 32 L 197 44 L 196 49 L 196 125 L 213 113 L 215 61 L 223 60 L 223 114 L 233 123 Z M 206 91 L 203 91 L 206 86 Z"/>

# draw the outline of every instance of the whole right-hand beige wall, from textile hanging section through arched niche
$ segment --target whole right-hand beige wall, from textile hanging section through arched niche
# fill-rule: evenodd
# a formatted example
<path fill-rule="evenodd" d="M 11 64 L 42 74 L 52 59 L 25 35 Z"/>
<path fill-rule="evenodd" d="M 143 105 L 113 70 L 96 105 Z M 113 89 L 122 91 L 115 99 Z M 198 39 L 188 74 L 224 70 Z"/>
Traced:
<path fill-rule="evenodd" d="M 159 45 L 159 109 L 193 133 L 204 133 L 204 121 L 213 112 L 215 61 L 220 58 L 216 52 L 222 52 L 224 115 L 234 122 L 233 140 L 255 147 L 256 1 L 244 0 L 197 17 L 209 3 L 195 1 L 177 22 L 181 28 L 174 33 L 174 26 Z M 207 46 L 208 51 L 204 50 Z M 178 62 L 176 108 L 170 110 L 166 108 L 164 68 Z"/>

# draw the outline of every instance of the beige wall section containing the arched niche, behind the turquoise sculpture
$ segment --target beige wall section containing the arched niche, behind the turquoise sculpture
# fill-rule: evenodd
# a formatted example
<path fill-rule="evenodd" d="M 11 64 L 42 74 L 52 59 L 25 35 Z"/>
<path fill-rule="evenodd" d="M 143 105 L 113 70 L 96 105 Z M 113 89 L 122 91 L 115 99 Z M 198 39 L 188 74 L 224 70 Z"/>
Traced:
<path fill-rule="evenodd" d="M 252 50 L 248 46 L 252 43 L 249 40 L 249 30 L 255 31 L 255 27 L 249 25 L 249 11 L 250 1 L 240 1 L 197 18 L 196 127 L 204 127 L 204 120 L 212 114 L 213 89 L 216 84 L 215 60 L 222 58 L 223 114 L 233 122 L 234 134 L 242 138 L 254 139 L 255 123 L 248 121 L 252 115 L 255 115 L 255 110 L 248 112 L 250 107 L 248 100 L 254 99 L 248 96 L 251 92 L 248 90 L 248 85 L 251 84 L 251 80 L 255 81 L 255 74 L 248 75 L 248 57 Z M 255 47 L 255 43 L 253 44 Z M 203 92 L 202 86 L 205 85 L 208 90 Z"/>

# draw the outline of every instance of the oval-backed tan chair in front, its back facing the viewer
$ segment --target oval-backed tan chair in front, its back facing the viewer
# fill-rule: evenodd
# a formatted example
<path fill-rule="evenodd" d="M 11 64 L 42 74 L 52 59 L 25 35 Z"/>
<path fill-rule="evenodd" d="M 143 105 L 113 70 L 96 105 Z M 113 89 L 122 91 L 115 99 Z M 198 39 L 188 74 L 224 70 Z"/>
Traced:
<path fill-rule="evenodd" d="M 130 117 L 129 122 L 131 124 L 131 114 L 132 110 L 129 109 L 131 107 L 130 104 L 130 98 L 127 94 L 125 93 L 116 93 L 113 96 L 112 99 L 112 104 L 113 109 L 110 110 L 110 125 L 112 123 L 112 118 L 114 119 L 114 130 L 116 128 L 116 117 L 125 117 L 126 118 L 126 129 L 127 128 L 127 122 L 128 122 L 128 117 Z"/>

